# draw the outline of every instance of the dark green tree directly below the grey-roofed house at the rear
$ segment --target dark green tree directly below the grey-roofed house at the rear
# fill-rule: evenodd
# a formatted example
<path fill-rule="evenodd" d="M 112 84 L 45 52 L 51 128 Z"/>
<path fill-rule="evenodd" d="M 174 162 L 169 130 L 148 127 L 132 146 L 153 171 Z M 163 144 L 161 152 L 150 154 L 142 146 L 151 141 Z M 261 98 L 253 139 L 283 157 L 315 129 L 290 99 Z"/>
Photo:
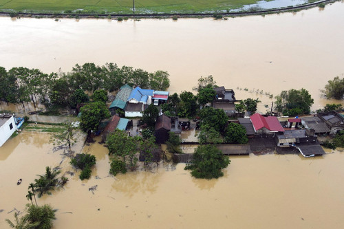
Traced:
<path fill-rule="evenodd" d="M 206 107 L 199 113 L 201 118 L 201 128 L 203 125 L 213 127 L 215 131 L 222 132 L 228 122 L 228 116 L 222 109 L 215 109 L 213 107 Z"/>

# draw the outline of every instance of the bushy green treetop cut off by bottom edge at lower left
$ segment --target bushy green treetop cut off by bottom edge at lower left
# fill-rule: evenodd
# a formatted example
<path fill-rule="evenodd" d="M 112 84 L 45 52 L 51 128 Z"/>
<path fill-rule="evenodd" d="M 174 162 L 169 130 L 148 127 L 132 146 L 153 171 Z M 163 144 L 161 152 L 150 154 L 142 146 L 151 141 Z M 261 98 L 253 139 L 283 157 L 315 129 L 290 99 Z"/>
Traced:
<path fill-rule="evenodd" d="M 50 229 L 53 226 L 56 210 L 52 206 L 45 204 L 43 206 L 35 206 L 34 204 L 27 205 L 28 220 L 32 223 L 39 222 L 39 229 Z"/>

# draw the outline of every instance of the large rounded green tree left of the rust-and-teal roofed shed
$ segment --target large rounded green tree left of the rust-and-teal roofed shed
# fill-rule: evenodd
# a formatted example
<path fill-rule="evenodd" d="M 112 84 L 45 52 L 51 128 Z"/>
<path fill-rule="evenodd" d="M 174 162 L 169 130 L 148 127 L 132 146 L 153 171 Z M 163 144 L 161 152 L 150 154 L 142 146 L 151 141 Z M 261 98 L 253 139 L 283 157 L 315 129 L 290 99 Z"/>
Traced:
<path fill-rule="evenodd" d="M 110 111 L 103 102 L 92 102 L 80 109 L 80 127 L 90 138 L 92 131 L 97 131 L 99 124 L 105 118 L 110 118 Z"/>

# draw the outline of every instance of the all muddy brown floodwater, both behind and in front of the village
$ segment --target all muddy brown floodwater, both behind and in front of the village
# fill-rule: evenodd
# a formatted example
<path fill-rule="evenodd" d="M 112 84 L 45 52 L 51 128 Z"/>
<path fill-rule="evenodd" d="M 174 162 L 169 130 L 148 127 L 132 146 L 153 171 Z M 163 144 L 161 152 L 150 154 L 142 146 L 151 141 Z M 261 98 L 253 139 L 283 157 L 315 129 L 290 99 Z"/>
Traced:
<path fill-rule="evenodd" d="M 301 87 L 318 109 L 332 102 L 320 98 L 319 89 L 344 73 L 343 12 L 344 3 L 336 2 L 325 10 L 227 21 L 0 18 L 0 65 L 47 73 L 85 62 L 162 69 L 171 75 L 172 93 L 191 90 L 197 78 L 212 74 L 239 99 L 259 97 L 260 111 L 272 101 L 266 92 Z M 49 138 L 23 131 L 0 148 L 0 228 L 13 219 L 8 212 L 28 203 L 28 184 L 45 166 L 62 162 L 63 173 L 73 171 L 62 151 L 52 152 Z M 67 175 L 65 189 L 38 200 L 58 209 L 54 228 L 344 228 L 339 151 L 315 158 L 231 157 L 224 177 L 209 181 L 193 179 L 184 164 L 114 178 L 107 149 L 98 143 L 82 149 L 79 142 L 74 151 L 96 155 L 96 168 L 83 182 L 78 173 Z"/>

